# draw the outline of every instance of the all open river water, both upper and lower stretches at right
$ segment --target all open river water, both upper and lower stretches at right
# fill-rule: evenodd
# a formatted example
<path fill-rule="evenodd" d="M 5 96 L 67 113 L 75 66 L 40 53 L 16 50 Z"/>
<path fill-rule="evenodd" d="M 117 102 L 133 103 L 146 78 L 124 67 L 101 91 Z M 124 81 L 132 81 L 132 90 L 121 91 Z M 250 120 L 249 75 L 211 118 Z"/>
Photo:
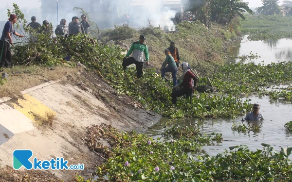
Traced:
<path fill-rule="evenodd" d="M 255 64 L 262 63 L 262 61 L 264 61 L 264 64 L 292 61 L 292 40 L 249 41 L 247 35 L 245 35 L 242 40 L 230 48 L 230 51 L 236 56 L 248 54 L 251 51 L 254 54 L 257 53 L 261 58 L 253 60 Z M 247 145 L 249 149 L 256 151 L 256 149 L 262 149 L 261 143 L 271 144 L 271 147 L 274 147 L 276 151 L 280 151 L 281 147 L 292 147 L 292 133 L 286 131 L 284 127 L 286 122 L 292 121 L 292 103 L 281 99 L 272 101 L 267 97 L 248 99 L 251 99 L 249 102 L 252 104 L 259 103 L 261 105 L 259 112 L 264 117 L 263 123 L 260 121 L 251 123 L 251 125 L 256 126 L 262 124 L 258 132 L 238 133 L 232 131 L 233 122 L 237 125 L 242 123 L 241 116 L 235 119 L 179 119 L 176 122 L 182 125 L 198 125 L 202 133 L 222 133 L 223 141 L 205 146 L 201 154 L 213 156 L 224 152 L 224 149 L 229 150 L 229 147 L 237 145 Z M 161 137 L 159 133 L 164 131 L 163 123 L 167 121 L 169 121 L 169 118 L 162 118 L 159 123 L 148 129 L 146 134 L 154 139 Z M 247 125 L 246 121 L 243 123 Z"/>

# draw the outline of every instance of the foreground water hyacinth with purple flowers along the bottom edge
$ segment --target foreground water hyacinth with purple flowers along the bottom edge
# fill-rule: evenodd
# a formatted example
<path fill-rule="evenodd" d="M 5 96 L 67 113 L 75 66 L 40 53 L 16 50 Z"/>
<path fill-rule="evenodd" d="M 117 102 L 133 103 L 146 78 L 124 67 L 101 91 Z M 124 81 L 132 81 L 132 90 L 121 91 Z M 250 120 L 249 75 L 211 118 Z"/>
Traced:
<path fill-rule="evenodd" d="M 177 127 L 176 127 L 177 128 Z M 180 132 L 180 128 L 178 128 Z M 170 130 L 175 131 L 174 128 Z M 112 133 L 115 135 L 115 133 Z M 291 181 L 292 148 L 277 152 L 270 144 L 250 151 L 247 146 L 232 146 L 216 156 L 194 155 L 210 138 L 200 142 L 202 134 L 174 140 L 154 141 L 146 134 L 123 132 L 118 140 L 126 145 L 113 147 L 113 156 L 97 167 L 96 182 L 208 182 L 208 181 Z M 191 152 L 191 153 L 188 153 Z M 108 178 L 108 180 L 105 179 Z M 76 177 L 78 182 L 86 182 Z M 90 180 L 92 181 L 92 180 Z"/>

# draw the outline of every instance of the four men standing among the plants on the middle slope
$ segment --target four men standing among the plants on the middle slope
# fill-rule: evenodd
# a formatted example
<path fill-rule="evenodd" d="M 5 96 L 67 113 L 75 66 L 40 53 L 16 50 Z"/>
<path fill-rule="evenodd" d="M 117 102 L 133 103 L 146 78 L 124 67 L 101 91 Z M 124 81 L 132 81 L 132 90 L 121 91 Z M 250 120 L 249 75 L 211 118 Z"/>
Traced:
<path fill-rule="evenodd" d="M 148 48 L 144 41 L 146 40 L 145 35 L 140 35 L 139 41 L 133 42 L 128 53 L 123 58 L 123 69 L 126 70 L 127 66 L 135 64 L 137 78 L 141 78 L 143 75 L 144 61 L 146 60 L 146 66 L 149 65 L 149 54 Z M 132 56 L 129 55 L 132 53 Z M 164 50 L 165 60 L 161 67 L 161 77 L 164 78 L 165 73 L 171 72 L 173 80 L 173 90 L 171 93 L 172 103 L 176 104 L 177 97 L 183 95 L 186 96 L 188 102 L 192 103 L 193 89 L 196 87 L 198 78 L 190 70 L 188 63 L 184 62 L 180 65 L 179 50 L 175 47 L 175 42 L 170 43 L 170 47 Z M 167 65 L 167 66 L 166 66 Z M 177 80 L 178 68 L 182 66 L 183 75 Z"/>

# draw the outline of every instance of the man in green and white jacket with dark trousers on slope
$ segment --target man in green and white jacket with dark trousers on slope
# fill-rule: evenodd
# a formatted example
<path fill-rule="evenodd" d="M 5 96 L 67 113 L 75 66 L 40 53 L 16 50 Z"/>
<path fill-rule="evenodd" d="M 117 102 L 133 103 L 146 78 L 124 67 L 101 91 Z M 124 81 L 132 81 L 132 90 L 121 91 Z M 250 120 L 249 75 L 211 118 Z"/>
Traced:
<path fill-rule="evenodd" d="M 144 35 L 140 35 L 139 41 L 132 43 L 130 50 L 126 54 L 126 57 L 123 58 L 122 66 L 124 70 L 126 70 L 127 66 L 129 65 L 136 65 L 137 78 L 141 78 L 141 76 L 143 75 L 144 59 L 146 59 L 147 66 L 149 65 L 149 54 L 148 48 L 144 44 L 145 40 L 146 37 Z M 132 52 L 132 56 L 127 58 Z"/>

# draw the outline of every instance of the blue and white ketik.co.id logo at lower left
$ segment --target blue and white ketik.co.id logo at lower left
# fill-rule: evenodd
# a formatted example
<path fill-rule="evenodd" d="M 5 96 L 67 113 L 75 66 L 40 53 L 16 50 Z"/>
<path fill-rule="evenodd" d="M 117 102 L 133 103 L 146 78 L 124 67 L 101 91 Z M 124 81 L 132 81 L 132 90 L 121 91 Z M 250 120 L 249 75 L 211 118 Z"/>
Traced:
<path fill-rule="evenodd" d="M 51 159 L 50 161 L 44 160 L 40 161 L 36 157 L 34 162 L 31 163 L 29 160 L 33 156 L 32 150 L 14 150 L 13 151 L 13 168 L 18 170 L 22 165 L 27 169 L 69 169 L 69 170 L 83 170 L 84 164 L 70 165 L 68 166 L 68 161 L 64 160 L 63 157 L 57 157 L 56 159 Z"/>

